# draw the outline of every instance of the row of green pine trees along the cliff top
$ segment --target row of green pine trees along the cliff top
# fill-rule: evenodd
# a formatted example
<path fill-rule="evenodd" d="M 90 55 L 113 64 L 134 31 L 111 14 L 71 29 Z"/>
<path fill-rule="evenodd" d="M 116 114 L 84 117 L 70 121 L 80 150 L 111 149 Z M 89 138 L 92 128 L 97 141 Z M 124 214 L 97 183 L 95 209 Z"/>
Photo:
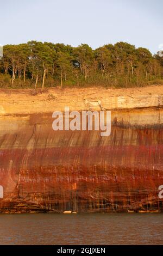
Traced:
<path fill-rule="evenodd" d="M 3 46 L 0 60 L 1 88 L 54 86 L 141 87 L 163 83 L 163 57 L 127 42 L 92 50 L 29 41 Z"/>

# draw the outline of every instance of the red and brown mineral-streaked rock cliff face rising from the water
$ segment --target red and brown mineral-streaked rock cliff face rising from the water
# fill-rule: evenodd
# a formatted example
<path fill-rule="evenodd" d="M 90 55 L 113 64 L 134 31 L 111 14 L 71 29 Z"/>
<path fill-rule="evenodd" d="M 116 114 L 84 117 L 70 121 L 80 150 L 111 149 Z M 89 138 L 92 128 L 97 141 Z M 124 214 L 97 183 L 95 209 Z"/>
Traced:
<path fill-rule="evenodd" d="M 162 96 L 153 96 L 150 107 L 150 95 L 143 95 L 147 103 L 141 100 L 141 108 L 135 103 L 139 95 L 138 100 L 130 97 L 131 108 L 122 97 L 112 97 L 112 102 L 118 101 L 116 108 L 106 96 L 103 101 L 86 99 L 76 108 L 112 109 L 109 137 L 101 137 L 99 131 L 53 131 L 52 112 L 59 105 L 46 113 L 41 109 L 28 113 L 35 109 L 33 102 L 20 114 L 22 109 L 3 99 L 0 212 L 162 211 L 158 197 L 163 185 Z"/>

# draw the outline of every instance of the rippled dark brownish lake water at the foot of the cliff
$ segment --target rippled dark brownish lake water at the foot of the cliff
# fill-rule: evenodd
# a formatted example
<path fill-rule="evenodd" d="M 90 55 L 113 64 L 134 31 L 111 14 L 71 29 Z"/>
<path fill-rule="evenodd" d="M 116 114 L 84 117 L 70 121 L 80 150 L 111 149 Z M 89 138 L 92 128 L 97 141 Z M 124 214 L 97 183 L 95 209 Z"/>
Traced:
<path fill-rule="evenodd" d="M 0 215 L 1 245 L 162 245 L 163 214 Z"/>

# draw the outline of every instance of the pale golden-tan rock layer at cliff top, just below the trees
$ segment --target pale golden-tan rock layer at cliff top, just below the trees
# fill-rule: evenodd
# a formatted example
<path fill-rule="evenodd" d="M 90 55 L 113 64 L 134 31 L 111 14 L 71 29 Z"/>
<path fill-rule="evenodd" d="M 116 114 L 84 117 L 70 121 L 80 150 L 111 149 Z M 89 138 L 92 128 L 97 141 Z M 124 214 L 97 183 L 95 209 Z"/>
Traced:
<path fill-rule="evenodd" d="M 0 90 L 0 115 L 85 109 L 130 109 L 163 105 L 163 86 L 129 89 L 72 88 Z"/>

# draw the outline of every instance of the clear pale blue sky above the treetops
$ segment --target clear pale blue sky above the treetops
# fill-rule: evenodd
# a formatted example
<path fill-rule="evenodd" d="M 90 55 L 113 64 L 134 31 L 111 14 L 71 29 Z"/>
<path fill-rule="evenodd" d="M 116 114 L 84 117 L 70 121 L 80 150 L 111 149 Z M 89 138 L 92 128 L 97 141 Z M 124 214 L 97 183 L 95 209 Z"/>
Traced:
<path fill-rule="evenodd" d="M 163 44 L 163 0 L 0 0 L 0 44 L 72 46 L 126 41 L 152 53 Z"/>

